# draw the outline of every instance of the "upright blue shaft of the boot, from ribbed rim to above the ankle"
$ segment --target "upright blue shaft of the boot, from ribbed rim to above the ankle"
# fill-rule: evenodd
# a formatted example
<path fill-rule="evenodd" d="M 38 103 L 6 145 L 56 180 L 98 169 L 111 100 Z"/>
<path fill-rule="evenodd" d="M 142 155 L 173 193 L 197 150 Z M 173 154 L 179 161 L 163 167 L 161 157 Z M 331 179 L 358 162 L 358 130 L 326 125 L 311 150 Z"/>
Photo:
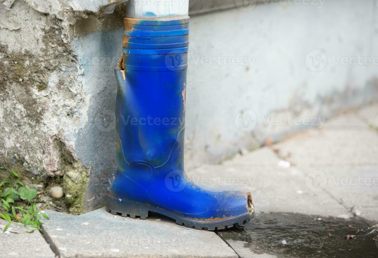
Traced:
<path fill-rule="evenodd" d="M 123 171 L 140 161 L 162 166 L 183 137 L 189 44 L 189 18 L 124 22 L 123 56 L 115 70 L 118 166 Z"/>

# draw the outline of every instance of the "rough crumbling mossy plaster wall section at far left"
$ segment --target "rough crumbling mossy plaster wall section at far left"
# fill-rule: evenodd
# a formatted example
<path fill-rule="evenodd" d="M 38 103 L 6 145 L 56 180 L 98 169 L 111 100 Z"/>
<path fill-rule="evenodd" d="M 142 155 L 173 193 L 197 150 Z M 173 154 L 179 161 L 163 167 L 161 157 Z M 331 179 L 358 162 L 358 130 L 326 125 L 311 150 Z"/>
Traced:
<path fill-rule="evenodd" d="M 81 24 L 77 19 L 100 23 L 104 30 L 119 28 L 124 6 L 115 11 L 113 6 L 111 17 L 103 6 L 113 2 L 99 1 L 95 9 L 93 3 L 74 1 L 1 3 L 6 16 L 0 23 L 0 165 L 6 169 L 0 176 L 25 167 L 19 174 L 38 190 L 37 202 L 52 202 L 58 210 L 83 211 L 92 166 L 76 152 L 96 142 L 96 135 L 81 140 L 82 128 L 93 123 L 89 108 L 96 93 L 87 90 L 82 53 L 72 45 Z M 82 28 L 81 34 L 95 27 Z M 63 198 L 52 197 L 54 186 L 63 188 Z"/>

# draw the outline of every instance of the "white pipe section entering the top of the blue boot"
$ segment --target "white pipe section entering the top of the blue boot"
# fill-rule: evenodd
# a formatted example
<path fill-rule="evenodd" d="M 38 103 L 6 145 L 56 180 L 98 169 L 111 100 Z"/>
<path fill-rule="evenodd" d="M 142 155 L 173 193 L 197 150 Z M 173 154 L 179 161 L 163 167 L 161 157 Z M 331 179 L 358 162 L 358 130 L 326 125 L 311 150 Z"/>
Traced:
<path fill-rule="evenodd" d="M 187 16 L 189 0 L 129 0 L 126 17 L 156 18 L 170 16 Z"/>

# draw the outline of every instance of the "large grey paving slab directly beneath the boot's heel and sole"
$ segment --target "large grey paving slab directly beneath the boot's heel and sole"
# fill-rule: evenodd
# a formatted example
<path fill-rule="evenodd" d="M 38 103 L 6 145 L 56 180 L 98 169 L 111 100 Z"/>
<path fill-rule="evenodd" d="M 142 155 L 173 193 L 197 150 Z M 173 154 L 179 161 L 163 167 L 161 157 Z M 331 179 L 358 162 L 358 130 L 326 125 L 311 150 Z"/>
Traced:
<path fill-rule="evenodd" d="M 105 208 L 71 215 L 46 211 L 43 229 L 64 257 L 235 257 L 214 232 L 189 229 L 168 218 L 123 218 Z"/>

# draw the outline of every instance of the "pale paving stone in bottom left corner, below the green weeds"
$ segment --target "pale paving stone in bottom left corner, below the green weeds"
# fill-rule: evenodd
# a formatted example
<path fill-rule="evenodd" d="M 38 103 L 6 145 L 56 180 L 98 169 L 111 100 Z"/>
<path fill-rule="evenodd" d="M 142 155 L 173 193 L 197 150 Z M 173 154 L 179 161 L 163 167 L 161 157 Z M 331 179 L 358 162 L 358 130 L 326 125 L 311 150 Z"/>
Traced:
<path fill-rule="evenodd" d="M 13 223 L 3 233 L 8 221 L 0 219 L 0 257 L 53 258 L 55 254 L 41 233 L 26 233 L 25 227 Z"/>

